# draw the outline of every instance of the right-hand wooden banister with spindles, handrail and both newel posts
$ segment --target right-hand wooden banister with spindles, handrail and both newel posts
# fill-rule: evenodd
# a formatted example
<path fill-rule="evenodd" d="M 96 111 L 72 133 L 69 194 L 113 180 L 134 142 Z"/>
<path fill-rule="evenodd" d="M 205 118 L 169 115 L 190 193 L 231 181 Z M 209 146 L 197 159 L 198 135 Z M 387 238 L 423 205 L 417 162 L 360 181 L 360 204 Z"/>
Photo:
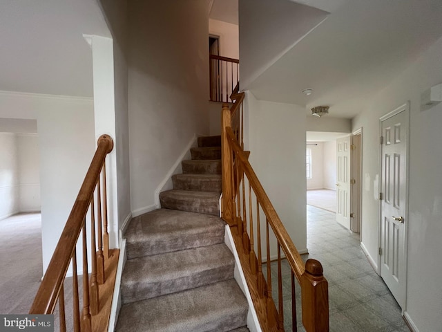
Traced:
<path fill-rule="evenodd" d="M 238 254 L 261 329 L 285 331 L 285 306 L 282 302 L 282 256 L 285 256 L 291 269 L 292 306 L 291 314 L 287 313 L 287 317 L 292 320 L 293 331 L 296 331 L 297 308 L 295 282 L 298 282 L 301 287 L 302 324 L 305 330 L 327 332 L 329 331 L 328 282 L 323 276 L 323 268 L 320 262 L 314 259 L 304 263 L 249 163 L 249 151 L 244 151 L 243 142 L 244 93 L 239 92 L 239 83 L 230 98 L 233 100 L 231 108 L 229 109 L 229 104 L 222 106 L 221 215 L 231 227 L 233 240 L 239 247 Z M 256 199 L 256 203 L 253 203 L 255 201 L 252 196 Z M 261 234 L 260 214 L 265 217 L 265 237 Z M 276 279 L 272 277 L 272 264 L 270 264 L 272 255 L 270 232 L 276 238 Z M 265 250 L 262 250 L 261 246 Z M 267 254 L 266 261 L 262 261 L 262 251 Z M 265 268 L 263 264 L 266 265 Z M 263 272 L 265 270 L 267 277 Z M 272 283 L 277 287 L 272 287 Z M 275 296 L 278 301 L 273 300 Z"/>

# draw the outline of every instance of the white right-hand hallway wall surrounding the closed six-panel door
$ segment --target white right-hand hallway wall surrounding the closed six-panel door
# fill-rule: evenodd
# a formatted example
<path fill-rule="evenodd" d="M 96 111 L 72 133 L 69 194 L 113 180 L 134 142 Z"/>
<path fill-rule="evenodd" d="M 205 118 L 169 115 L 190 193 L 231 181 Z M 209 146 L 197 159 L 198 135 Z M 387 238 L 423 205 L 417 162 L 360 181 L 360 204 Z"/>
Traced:
<path fill-rule="evenodd" d="M 442 104 L 421 111 L 421 93 L 442 82 L 442 39 L 385 86 L 353 120 L 363 127 L 362 242 L 377 261 L 379 202 L 374 179 L 379 174 L 379 117 L 410 100 L 410 182 L 405 314 L 416 331 L 441 331 L 442 326 Z"/>

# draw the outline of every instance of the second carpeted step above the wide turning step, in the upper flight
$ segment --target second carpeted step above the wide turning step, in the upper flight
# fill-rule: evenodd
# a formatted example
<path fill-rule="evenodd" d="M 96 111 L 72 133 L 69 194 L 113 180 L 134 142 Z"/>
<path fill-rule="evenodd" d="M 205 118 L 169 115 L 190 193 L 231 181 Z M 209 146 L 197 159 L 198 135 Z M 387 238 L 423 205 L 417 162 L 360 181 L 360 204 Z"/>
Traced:
<path fill-rule="evenodd" d="M 173 189 L 193 190 L 202 192 L 222 191 L 220 174 L 175 174 L 172 176 Z"/>

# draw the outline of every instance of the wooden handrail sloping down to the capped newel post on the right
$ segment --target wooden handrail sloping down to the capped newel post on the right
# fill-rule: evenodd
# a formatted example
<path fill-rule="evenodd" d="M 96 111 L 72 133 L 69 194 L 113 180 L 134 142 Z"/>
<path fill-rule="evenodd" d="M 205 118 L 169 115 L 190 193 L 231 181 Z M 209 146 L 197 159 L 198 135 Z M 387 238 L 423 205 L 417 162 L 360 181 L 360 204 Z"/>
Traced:
<path fill-rule="evenodd" d="M 293 241 L 291 241 L 289 233 L 287 233 L 284 225 L 282 225 L 281 219 L 276 213 L 275 208 L 273 208 L 269 196 L 267 196 L 264 188 L 258 180 L 258 176 L 256 176 L 255 171 L 253 171 L 247 155 L 244 153 L 244 151 L 242 151 L 242 148 L 236 140 L 232 129 L 227 127 L 226 131 L 227 137 L 229 139 L 229 145 L 233 149 L 233 153 L 235 154 L 236 158 L 239 158 L 241 160 L 243 167 L 242 169 L 249 179 L 249 183 L 251 184 L 251 187 L 253 188 L 257 199 L 259 200 L 262 210 L 267 216 L 267 219 L 269 219 L 271 229 L 278 238 L 278 243 L 280 243 L 282 251 L 287 258 L 287 261 L 289 261 L 292 270 L 296 272 L 296 279 L 298 279 L 298 282 L 300 282 L 301 275 L 305 272 L 304 261 L 302 261 L 302 258 L 300 257 L 299 252 L 296 249 L 296 246 L 294 245 Z"/>

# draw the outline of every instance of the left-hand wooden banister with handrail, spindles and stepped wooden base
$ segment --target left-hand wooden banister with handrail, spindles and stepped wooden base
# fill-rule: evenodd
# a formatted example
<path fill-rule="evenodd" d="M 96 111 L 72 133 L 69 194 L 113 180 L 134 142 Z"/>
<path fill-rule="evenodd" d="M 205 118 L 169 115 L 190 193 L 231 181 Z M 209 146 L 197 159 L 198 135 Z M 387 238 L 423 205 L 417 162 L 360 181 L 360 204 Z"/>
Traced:
<path fill-rule="evenodd" d="M 107 330 L 112 297 L 109 297 L 108 294 L 104 296 L 104 294 L 108 293 L 109 289 L 113 290 L 116 271 L 115 261 L 118 259 L 119 253 L 119 250 L 115 249 L 111 250 L 111 254 L 108 253 L 106 175 L 104 173 L 106 172 L 106 156 L 112 149 L 112 138 L 108 135 L 100 136 L 88 172 L 29 311 L 30 314 L 51 314 L 54 312 L 58 301 L 60 331 Z M 97 205 L 95 205 L 95 200 Z M 97 208 L 95 209 L 95 207 Z M 90 212 L 90 224 L 86 221 L 88 212 Z M 103 221 L 102 216 L 104 216 Z M 90 235 L 88 235 L 89 225 Z M 98 231 L 96 231 L 96 228 Z M 81 239 L 79 239 L 80 233 L 82 234 Z M 78 246 L 82 253 L 81 265 L 77 264 L 77 241 L 82 243 L 82 246 Z M 88 246 L 88 243 L 90 246 Z M 96 243 L 98 243 L 98 248 Z M 88 248 L 90 248 L 90 263 L 92 266 L 90 278 Z M 70 262 L 73 266 L 73 311 L 70 313 L 72 318 L 66 320 L 65 316 L 68 313 L 66 313 L 64 304 L 64 280 Z M 77 266 L 83 268 L 82 291 L 79 290 Z M 106 275 L 104 274 L 105 270 Z M 111 277 L 108 277 L 108 273 Z M 81 312 L 79 293 L 82 295 Z M 100 302 L 101 299 L 104 302 Z M 73 322 L 73 326 L 69 326 L 70 329 L 66 329 L 67 321 Z"/>

